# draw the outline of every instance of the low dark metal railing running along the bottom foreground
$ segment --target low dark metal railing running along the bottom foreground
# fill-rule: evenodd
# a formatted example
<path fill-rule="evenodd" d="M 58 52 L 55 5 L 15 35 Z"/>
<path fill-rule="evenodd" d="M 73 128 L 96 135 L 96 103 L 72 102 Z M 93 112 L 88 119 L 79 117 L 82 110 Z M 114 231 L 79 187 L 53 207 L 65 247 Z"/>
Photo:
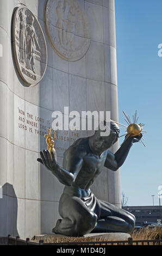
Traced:
<path fill-rule="evenodd" d="M 1 236 L 0 245 L 162 245 L 162 240 L 133 240 L 129 237 L 126 241 L 85 241 L 85 242 L 57 242 L 57 243 L 45 243 L 43 240 L 39 242 L 30 241 L 29 238 L 26 240 L 20 239 L 19 236 L 12 237 Z"/>

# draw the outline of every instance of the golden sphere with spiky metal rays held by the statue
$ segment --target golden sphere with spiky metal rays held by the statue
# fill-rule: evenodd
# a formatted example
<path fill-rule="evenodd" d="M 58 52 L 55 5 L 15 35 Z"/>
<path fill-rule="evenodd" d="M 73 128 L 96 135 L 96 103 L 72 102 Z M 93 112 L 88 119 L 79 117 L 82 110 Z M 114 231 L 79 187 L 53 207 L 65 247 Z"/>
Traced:
<path fill-rule="evenodd" d="M 124 117 L 125 117 L 124 120 L 126 121 L 126 123 L 128 124 L 128 126 L 123 125 L 123 124 L 120 124 L 120 123 L 118 123 L 118 122 L 113 121 L 113 120 L 110 119 L 110 121 L 112 121 L 112 122 L 114 122 L 114 123 L 116 123 L 116 124 L 119 124 L 119 125 L 123 126 L 123 127 L 120 127 L 120 129 L 126 129 L 126 128 L 127 128 L 126 133 L 124 133 L 123 135 L 119 136 L 119 138 L 120 138 L 120 137 L 123 137 L 123 136 L 126 136 L 126 138 L 124 139 L 124 141 L 126 141 L 126 139 L 127 139 L 128 137 L 139 136 L 140 133 L 146 132 L 146 131 L 143 131 L 143 130 L 142 130 L 142 129 L 143 129 L 143 126 L 144 126 L 145 124 L 143 124 L 143 123 L 138 124 L 138 119 L 139 119 L 139 117 L 137 117 L 137 112 L 136 112 L 136 111 L 135 111 L 135 114 L 133 115 L 133 122 L 131 121 L 129 115 L 127 115 L 124 111 L 123 111 L 123 114 L 124 114 Z M 145 141 L 144 138 L 142 138 L 142 140 Z M 144 144 L 144 142 L 142 142 L 142 140 L 140 141 L 140 143 L 142 143 L 142 144 L 146 147 L 146 145 Z"/>

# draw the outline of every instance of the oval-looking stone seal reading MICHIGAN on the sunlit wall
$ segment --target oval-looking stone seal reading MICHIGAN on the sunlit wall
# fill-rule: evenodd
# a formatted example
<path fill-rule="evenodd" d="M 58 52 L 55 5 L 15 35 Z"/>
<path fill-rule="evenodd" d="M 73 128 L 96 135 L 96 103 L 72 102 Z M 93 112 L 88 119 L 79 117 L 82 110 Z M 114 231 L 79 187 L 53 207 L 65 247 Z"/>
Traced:
<path fill-rule="evenodd" d="M 26 7 L 15 11 L 12 37 L 14 59 L 22 80 L 28 86 L 39 83 L 47 67 L 46 41 L 38 20 Z"/>

